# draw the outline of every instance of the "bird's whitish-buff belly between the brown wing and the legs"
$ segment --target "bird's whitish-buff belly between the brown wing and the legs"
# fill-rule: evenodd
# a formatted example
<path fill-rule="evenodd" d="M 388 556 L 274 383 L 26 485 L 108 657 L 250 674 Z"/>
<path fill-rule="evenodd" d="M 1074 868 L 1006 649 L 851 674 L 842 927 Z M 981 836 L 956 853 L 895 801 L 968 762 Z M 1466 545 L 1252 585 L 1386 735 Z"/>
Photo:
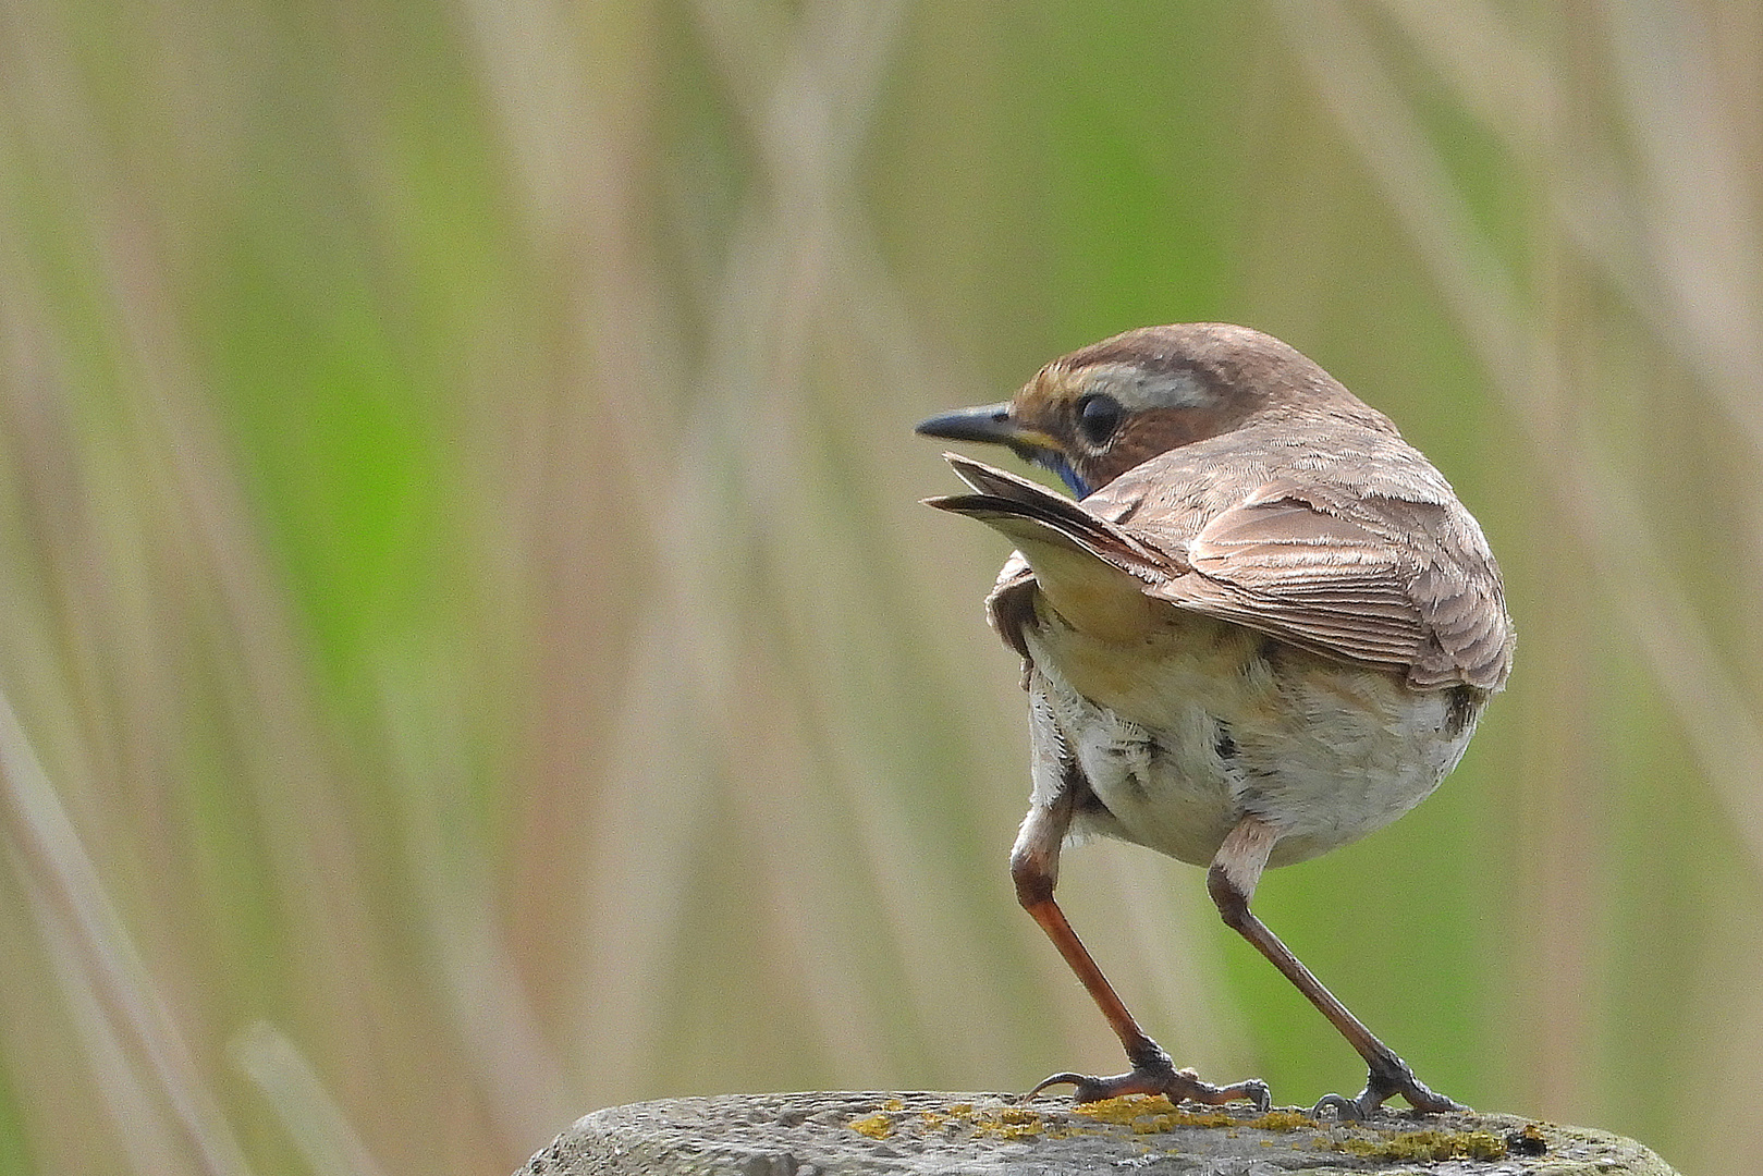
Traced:
<path fill-rule="evenodd" d="M 1280 839 L 1269 864 L 1356 841 L 1419 804 L 1456 765 L 1483 698 L 1409 688 L 1400 675 L 1269 642 L 1171 610 L 1125 651 L 1056 619 L 1028 626 L 1035 663 L 1037 804 L 1065 786 L 1054 741 L 1075 755 L 1105 834 L 1204 866 L 1246 815 Z"/>

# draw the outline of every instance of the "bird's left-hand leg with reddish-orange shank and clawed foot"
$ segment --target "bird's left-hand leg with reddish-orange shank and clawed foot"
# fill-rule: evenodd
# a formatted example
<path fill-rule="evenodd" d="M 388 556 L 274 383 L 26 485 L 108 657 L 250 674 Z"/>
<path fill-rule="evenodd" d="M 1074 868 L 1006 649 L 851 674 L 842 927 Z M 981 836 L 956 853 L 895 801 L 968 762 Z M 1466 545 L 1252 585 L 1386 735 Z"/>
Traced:
<path fill-rule="evenodd" d="M 1023 822 L 1015 850 L 1010 853 L 1010 876 L 1015 880 L 1015 896 L 1023 908 L 1033 915 L 1040 929 L 1047 933 L 1060 956 L 1088 989 L 1102 1009 L 1102 1016 L 1114 1028 L 1120 1044 L 1127 1047 L 1127 1060 L 1132 1070 L 1112 1077 L 1093 1077 L 1088 1074 L 1054 1074 L 1028 1091 L 1024 1098 L 1033 1098 L 1049 1086 L 1070 1083 L 1075 1086 L 1077 1102 L 1097 1102 L 1118 1095 L 1167 1095 L 1171 1102 L 1190 1098 L 1208 1105 L 1224 1105 L 1232 1098 L 1246 1098 L 1257 1111 L 1271 1105 L 1268 1084 L 1261 1079 L 1213 1086 L 1188 1068 L 1178 1070 L 1164 1047 L 1151 1040 L 1139 1023 L 1127 1012 L 1127 1005 L 1114 993 L 1114 986 L 1102 975 L 1102 968 L 1084 949 L 1072 924 L 1065 920 L 1065 912 L 1053 901 L 1053 887 L 1060 876 L 1060 846 L 1072 823 L 1077 790 L 1067 788 L 1051 806 L 1037 806 Z"/>

